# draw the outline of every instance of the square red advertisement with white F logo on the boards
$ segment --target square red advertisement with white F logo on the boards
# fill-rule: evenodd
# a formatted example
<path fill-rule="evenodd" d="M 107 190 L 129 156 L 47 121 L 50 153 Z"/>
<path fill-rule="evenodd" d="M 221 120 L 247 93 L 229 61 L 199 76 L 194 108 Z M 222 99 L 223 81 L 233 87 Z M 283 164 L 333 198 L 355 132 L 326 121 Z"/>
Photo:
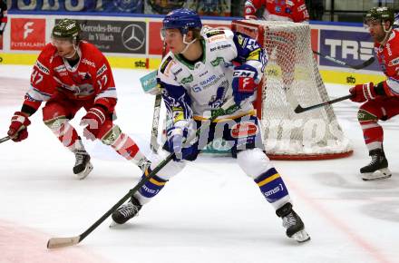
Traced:
<path fill-rule="evenodd" d="M 42 50 L 45 45 L 45 19 L 12 18 L 11 50 Z"/>

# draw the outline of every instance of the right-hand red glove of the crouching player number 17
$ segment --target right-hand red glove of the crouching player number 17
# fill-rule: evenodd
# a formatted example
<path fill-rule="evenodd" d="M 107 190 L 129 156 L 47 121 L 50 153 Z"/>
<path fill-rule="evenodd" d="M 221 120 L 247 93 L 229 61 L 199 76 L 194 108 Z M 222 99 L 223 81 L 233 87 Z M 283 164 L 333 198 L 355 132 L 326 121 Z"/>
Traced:
<path fill-rule="evenodd" d="M 102 124 L 106 120 L 106 112 L 100 106 L 92 107 L 86 115 L 83 116 L 81 126 L 86 126 L 83 130 L 83 136 L 94 141 L 97 138 L 97 134 L 102 127 Z"/>

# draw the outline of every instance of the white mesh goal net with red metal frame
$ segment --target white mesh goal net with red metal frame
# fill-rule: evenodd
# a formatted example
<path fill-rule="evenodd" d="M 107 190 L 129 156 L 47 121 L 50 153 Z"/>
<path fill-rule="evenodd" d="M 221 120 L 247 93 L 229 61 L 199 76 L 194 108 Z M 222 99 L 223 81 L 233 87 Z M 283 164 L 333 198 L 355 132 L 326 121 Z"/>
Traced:
<path fill-rule="evenodd" d="M 268 65 L 258 87 L 256 108 L 269 158 L 321 160 L 353 151 L 331 105 L 295 113 L 329 99 L 310 44 L 310 26 L 281 21 L 233 21 L 233 31 L 258 40 Z"/>

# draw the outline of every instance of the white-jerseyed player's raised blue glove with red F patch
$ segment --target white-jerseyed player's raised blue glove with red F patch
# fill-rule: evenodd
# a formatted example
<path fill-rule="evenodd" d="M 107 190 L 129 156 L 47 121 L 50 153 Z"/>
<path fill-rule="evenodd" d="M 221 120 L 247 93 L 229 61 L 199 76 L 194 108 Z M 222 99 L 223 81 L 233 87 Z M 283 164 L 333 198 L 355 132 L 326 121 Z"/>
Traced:
<path fill-rule="evenodd" d="M 233 72 L 233 95 L 234 102 L 239 105 L 255 93 L 258 86 L 256 83 L 258 71 L 248 64 L 237 66 Z"/>

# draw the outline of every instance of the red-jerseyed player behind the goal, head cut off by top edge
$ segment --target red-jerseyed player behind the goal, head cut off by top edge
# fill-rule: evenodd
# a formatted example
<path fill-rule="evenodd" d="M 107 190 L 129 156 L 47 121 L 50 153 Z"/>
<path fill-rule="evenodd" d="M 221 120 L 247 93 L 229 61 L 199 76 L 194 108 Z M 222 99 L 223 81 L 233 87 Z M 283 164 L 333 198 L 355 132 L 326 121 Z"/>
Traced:
<path fill-rule="evenodd" d="M 244 5 L 246 19 L 258 19 L 257 10 L 265 6 L 263 17 L 270 21 L 307 22 L 309 14 L 304 0 L 247 0 Z"/>

